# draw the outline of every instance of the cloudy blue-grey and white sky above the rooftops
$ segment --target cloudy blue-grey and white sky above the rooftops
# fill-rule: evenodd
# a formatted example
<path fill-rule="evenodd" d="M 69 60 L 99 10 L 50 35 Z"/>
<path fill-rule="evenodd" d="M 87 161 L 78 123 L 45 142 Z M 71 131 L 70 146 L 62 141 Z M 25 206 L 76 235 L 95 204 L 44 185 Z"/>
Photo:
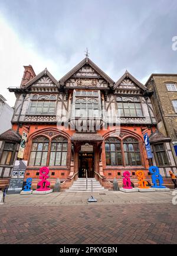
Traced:
<path fill-rule="evenodd" d="M 0 94 L 19 87 L 25 65 L 59 80 L 89 57 L 115 82 L 126 71 L 145 84 L 177 73 L 177 0 L 0 0 Z"/>

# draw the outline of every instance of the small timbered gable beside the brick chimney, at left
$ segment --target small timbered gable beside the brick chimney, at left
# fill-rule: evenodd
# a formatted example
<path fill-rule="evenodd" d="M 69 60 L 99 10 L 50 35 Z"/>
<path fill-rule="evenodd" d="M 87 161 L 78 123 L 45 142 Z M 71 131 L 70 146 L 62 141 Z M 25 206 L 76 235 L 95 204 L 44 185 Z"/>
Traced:
<path fill-rule="evenodd" d="M 58 82 L 57 80 L 48 72 L 47 69 L 44 69 L 41 73 L 35 76 L 30 82 L 25 84 L 24 88 L 28 88 L 31 91 L 58 91 Z"/>

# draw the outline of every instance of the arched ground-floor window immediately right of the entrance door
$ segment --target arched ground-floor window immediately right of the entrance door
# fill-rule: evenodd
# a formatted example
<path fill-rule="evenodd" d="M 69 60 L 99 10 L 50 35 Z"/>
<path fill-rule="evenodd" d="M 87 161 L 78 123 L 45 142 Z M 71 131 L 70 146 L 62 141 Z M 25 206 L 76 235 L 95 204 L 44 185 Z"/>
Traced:
<path fill-rule="evenodd" d="M 105 140 L 106 165 L 123 165 L 120 140 L 110 137 Z"/>

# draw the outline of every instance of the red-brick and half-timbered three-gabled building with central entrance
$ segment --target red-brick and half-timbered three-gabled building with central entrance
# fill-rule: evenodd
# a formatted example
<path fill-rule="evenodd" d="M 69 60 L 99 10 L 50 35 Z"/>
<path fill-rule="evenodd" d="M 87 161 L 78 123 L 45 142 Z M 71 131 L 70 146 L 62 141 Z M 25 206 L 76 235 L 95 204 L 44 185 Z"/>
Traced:
<path fill-rule="evenodd" d="M 32 66 L 24 68 L 21 86 L 9 91 L 17 97 L 12 129 L 28 133 L 25 178 L 33 178 L 33 187 L 41 166 L 49 167 L 51 185 L 60 178 L 63 189 L 86 177 L 86 170 L 107 188 L 113 187 L 114 177 L 122 184 L 125 170 L 135 183 L 137 170 L 150 178 L 149 165 L 157 158 L 147 158 L 143 135 L 147 132 L 159 145 L 152 90 L 127 71 L 114 82 L 89 57 L 59 81 L 47 69 L 35 75 Z M 161 140 L 166 143 L 165 168 L 176 171 L 171 139 L 165 135 Z M 157 146 L 152 151 L 156 154 Z M 161 171 L 167 177 L 168 170 Z"/>

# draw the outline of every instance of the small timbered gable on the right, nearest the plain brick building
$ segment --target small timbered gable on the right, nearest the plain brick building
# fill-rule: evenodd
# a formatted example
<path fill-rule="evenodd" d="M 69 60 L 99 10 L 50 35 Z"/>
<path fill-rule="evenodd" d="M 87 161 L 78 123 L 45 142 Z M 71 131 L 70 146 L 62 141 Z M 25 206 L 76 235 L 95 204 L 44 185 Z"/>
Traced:
<path fill-rule="evenodd" d="M 117 94 L 140 94 L 146 87 L 126 71 L 114 85 L 114 90 Z"/>

